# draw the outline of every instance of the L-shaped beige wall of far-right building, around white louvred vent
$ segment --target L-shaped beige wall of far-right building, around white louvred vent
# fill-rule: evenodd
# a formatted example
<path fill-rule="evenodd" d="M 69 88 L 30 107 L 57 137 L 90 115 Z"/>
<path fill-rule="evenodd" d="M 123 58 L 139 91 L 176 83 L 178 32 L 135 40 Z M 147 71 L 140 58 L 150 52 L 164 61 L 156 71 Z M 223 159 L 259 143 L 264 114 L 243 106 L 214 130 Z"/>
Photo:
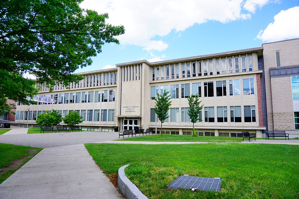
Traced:
<path fill-rule="evenodd" d="M 281 41 L 276 43 L 263 44 L 263 58 L 264 58 L 264 69 L 265 69 L 265 81 L 266 81 L 266 100 L 267 100 L 267 120 L 268 129 L 274 130 L 274 119 L 273 119 L 273 102 L 276 98 L 276 93 L 272 94 L 270 70 L 271 67 L 276 67 L 275 51 L 280 50 L 281 66 L 290 66 L 299 64 L 299 39 L 290 41 Z M 279 100 L 279 99 L 278 99 Z M 294 116 L 292 116 L 293 118 Z"/>

